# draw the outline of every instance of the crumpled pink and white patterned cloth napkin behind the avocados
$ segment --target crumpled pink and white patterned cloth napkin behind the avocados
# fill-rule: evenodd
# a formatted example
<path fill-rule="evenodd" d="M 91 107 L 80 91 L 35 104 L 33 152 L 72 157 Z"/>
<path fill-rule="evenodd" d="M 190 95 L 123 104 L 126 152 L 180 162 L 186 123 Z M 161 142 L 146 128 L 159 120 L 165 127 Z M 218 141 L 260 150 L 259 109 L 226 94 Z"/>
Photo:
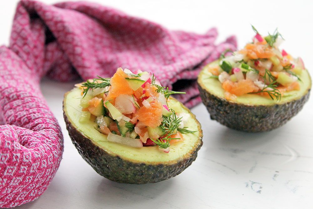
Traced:
<path fill-rule="evenodd" d="M 43 76 L 70 81 L 109 77 L 117 67 L 151 71 L 163 86 L 186 91 L 177 98 L 192 107 L 201 101 L 201 67 L 236 48 L 234 37 L 215 45 L 216 37 L 216 29 L 169 31 L 95 3 L 20 1 L 10 45 L 0 47 L 0 206 L 38 198 L 62 158 L 63 136 L 39 88 Z"/>

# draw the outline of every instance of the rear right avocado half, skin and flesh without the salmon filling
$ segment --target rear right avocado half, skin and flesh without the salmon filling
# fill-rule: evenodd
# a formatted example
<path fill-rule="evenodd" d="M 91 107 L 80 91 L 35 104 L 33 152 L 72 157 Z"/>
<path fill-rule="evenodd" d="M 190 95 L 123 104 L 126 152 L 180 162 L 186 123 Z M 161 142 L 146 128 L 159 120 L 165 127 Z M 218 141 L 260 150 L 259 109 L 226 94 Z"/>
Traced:
<path fill-rule="evenodd" d="M 198 88 L 210 118 L 236 130 L 263 132 L 278 128 L 295 116 L 308 101 L 311 89 L 309 72 L 300 76 L 300 90 L 285 92 L 279 102 L 257 94 L 237 97 L 235 102 L 224 98 L 222 84 L 210 78 L 208 68 L 219 60 L 206 65 L 198 76 Z"/>

